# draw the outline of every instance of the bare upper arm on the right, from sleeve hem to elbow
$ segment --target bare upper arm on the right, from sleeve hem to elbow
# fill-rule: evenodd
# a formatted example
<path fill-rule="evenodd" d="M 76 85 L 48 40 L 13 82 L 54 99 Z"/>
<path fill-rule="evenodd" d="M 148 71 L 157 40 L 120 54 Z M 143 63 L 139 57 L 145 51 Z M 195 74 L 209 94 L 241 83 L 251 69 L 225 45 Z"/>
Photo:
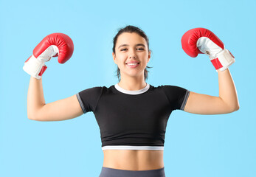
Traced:
<path fill-rule="evenodd" d="M 221 97 L 190 91 L 184 111 L 193 114 L 227 114 L 235 110 L 229 108 Z"/>

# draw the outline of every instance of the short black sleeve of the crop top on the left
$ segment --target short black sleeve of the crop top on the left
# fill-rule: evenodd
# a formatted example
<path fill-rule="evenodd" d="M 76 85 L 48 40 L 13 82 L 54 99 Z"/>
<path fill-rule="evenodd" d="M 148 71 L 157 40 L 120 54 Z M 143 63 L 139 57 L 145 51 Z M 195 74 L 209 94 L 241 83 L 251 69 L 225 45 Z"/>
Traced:
<path fill-rule="evenodd" d="M 83 114 L 86 112 L 94 111 L 97 107 L 97 102 L 102 94 L 102 87 L 93 87 L 85 89 L 77 93 L 77 100 L 83 110 Z"/>

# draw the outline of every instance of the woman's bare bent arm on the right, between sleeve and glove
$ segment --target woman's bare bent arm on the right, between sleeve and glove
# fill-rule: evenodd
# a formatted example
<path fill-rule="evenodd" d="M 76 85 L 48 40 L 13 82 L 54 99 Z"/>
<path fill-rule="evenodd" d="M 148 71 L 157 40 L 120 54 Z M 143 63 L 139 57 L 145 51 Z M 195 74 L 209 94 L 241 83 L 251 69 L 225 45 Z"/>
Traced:
<path fill-rule="evenodd" d="M 229 69 L 218 70 L 219 96 L 190 91 L 184 111 L 193 114 L 228 114 L 238 111 L 238 94 Z"/>

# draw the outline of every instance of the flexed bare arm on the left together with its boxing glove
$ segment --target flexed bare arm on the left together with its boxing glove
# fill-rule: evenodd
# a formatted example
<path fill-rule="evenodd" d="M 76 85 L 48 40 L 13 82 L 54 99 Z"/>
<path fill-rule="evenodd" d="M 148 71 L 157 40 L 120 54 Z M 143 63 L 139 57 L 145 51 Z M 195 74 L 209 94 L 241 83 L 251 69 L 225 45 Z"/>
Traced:
<path fill-rule="evenodd" d="M 58 121 L 72 119 L 83 114 L 74 94 L 62 100 L 45 103 L 42 75 L 52 57 L 59 63 L 66 63 L 74 50 L 72 39 L 63 33 L 47 35 L 33 50 L 33 55 L 24 63 L 24 71 L 31 75 L 27 94 L 27 116 L 38 121 Z"/>

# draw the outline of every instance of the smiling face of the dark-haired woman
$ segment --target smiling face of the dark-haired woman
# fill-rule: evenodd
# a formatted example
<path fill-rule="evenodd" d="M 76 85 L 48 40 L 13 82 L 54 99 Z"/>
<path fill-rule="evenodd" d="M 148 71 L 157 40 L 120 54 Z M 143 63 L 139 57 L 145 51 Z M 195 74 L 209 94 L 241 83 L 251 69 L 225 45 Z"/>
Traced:
<path fill-rule="evenodd" d="M 144 76 L 144 70 L 151 58 L 151 52 L 148 51 L 145 38 L 142 38 L 136 32 L 123 32 L 117 38 L 115 52 L 116 54 L 113 52 L 113 59 L 120 69 L 121 77 Z M 134 61 L 136 66 L 128 65 L 128 63 Z"/>

